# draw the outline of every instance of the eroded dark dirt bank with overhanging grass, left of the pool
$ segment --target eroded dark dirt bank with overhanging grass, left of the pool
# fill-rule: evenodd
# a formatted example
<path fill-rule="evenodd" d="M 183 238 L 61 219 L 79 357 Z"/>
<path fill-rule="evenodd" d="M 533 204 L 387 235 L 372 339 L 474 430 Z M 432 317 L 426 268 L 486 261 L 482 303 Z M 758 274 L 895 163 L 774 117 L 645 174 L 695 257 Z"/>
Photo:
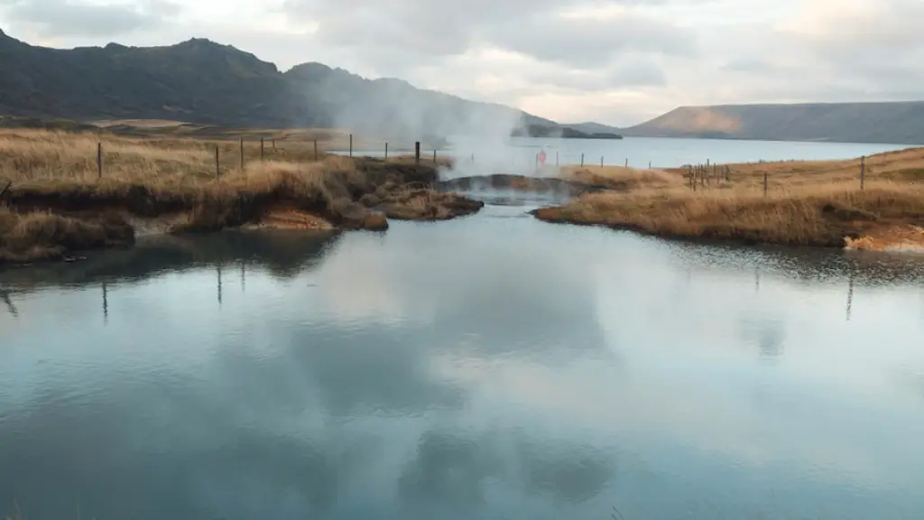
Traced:
<path fill-rule="evenodd" d="M 375 159 L 340 163 L 267 163 L 206 182 L 15 183 L 0 207 L 0 264 L 68 259 L 79 251 L 128 246 L 140 232 L 382 230 L 388 218 L 444 220 L 483 206 L 433 190 L 438 176 L 431 166 Z"/>

